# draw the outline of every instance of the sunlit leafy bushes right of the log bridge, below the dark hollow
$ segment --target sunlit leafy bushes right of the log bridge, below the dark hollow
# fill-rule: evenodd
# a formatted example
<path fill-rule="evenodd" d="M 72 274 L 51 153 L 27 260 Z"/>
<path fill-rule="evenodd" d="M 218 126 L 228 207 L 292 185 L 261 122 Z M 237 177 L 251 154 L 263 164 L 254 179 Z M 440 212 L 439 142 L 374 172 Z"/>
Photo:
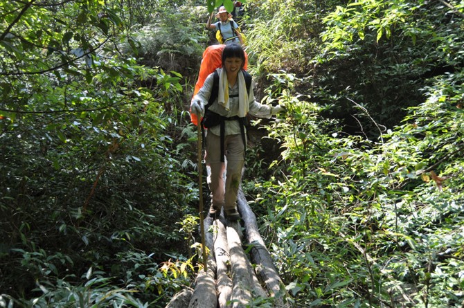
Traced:
<path fill-rule="evenodd" d="M 252 191 L 298 307 L 460 307 L 460 84 L 461 73 L 436 78 L 379 143 L 343 136 L 292 87 L 278 96 L 288 112 L 268 131 L 285 175 Z"/>

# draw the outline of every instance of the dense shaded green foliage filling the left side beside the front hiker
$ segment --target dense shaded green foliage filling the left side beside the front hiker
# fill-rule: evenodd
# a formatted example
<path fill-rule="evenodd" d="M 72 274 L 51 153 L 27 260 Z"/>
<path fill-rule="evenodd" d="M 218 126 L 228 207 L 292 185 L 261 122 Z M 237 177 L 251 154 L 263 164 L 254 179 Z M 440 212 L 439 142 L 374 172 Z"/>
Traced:
<path fill-rule="evenodd" d="M 136 41 L 102 1 L 1 10 L 2 298 L 166 301 L 188 278 L 171 283 L 157 264 L 182 246 L 175 222 L 197 198 L 174 143 L 181 75 L 124 55 Z"/>

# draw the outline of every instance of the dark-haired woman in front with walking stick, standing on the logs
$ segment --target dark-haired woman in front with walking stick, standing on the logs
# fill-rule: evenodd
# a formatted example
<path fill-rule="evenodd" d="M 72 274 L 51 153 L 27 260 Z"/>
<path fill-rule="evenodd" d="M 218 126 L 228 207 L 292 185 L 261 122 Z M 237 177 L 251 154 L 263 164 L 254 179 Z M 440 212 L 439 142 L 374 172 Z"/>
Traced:
<path fill-rule="evenodd" d="M 207 128 L 204 159 L 206 165 L 211 168 L 211 174 L 207 179 L 211 191 L 209 215 L 219 216 L 224 206 L 224 215 L 231 221 L 240 219 L 235 203 L 242 181 L 247 142 L 244 118 L 247 114 L 271 118 L 285 109 L 280 105 L 262 105 L 255 100 L 251 76 L 243 70 L 244 61 L 245 55 L 240 45 L 226 45 L 222 51 L 222 67 L 208 75 L 190 105 L 192 112 L 204 116 L 202 123 Z M 211 104 L 208 105 L 208 102 Z M 208 109 L 205 115 L 206 105 Z M 227 161 L 226 167 L 224 156 Z"/>

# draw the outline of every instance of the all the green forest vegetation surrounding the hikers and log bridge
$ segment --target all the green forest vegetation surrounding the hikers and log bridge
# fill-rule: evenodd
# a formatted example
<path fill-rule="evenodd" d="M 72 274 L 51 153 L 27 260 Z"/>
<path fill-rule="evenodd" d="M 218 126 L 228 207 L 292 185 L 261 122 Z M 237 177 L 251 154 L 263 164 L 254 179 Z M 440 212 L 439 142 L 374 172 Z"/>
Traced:
<path fill-rule="evenodd" d="M 193 286 L 188 105 L 220 2 L 0 3 L 0 307 Z M 252 121 L 243 181 L 286 300 L 462 308 L 462 1 L 244 7 L 256 97 L 287 107 Z"/>

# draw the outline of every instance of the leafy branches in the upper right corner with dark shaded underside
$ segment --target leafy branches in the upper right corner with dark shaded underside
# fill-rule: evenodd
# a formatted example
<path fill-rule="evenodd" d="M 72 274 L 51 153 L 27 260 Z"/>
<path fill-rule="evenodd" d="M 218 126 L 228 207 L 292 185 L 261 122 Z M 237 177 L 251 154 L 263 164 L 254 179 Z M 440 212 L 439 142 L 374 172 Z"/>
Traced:
<path fill-rule="evenodd" d="M 334 116 L 357 115 L 364 132 L 372 131 L 370 120 L 350 102 L 354 100 L 368 106 L 377 123 L 398 125 L 407 107 L 423 101 L 420 89 L 430 84 L 428 78 L 461 67 L 461 20 L 462 6 L 449 8 L 440 1 L 337 6 L 323 19 L 324 45 L 316 57 L 322 64 L 318 86 L 337 93 Z M 327 99 L 324 92 L 321 99 Z"/>

